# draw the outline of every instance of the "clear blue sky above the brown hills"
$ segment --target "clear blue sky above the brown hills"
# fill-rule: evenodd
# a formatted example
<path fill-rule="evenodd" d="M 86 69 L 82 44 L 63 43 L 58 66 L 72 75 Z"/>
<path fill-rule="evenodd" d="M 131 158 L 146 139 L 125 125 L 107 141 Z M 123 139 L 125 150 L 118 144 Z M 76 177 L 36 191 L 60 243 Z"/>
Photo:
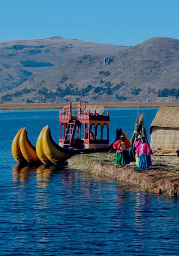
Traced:
<path fill-rule="evenodd" d="M 1 0 L 0 41 L 52 36 L 131 46 L 179 39 L 179 0 Z"/>

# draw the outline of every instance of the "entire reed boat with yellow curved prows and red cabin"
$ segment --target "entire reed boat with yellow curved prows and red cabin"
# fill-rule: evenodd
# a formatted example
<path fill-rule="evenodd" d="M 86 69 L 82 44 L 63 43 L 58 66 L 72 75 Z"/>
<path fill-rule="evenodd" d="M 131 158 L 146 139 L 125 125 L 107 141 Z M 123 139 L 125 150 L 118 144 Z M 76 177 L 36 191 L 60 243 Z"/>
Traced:
<path fill-rule="evenodd" d="M 107 106 L 99 108 L 92 105 L 87 109 L 78 102 L 78 108 L 72 109 L 69 102 L 59 113 L 59 145 L 52 139 L 49 125 L 41 130 L 36 148 L 30 143 L 26 129 L 21 128 L 12 142 L 12 155 L 18 163 L 60 164 L 75 154 L 109 152 L 112 148 L 109 144 L 109 123 Z M 121 134 L 129 140 L 121 129 L 116 130 L 115 140 Z"/>

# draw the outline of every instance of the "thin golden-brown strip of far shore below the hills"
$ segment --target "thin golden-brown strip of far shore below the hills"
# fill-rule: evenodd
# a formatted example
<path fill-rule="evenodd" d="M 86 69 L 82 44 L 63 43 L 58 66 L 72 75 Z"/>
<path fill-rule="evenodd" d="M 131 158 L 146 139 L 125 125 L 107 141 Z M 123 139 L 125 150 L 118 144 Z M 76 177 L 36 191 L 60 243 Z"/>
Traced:
<path fill-rule="evenodd" d="M 0 104 L 0 110 L 15 110 L 15 109 L 58 109 L 62 108 L 64 104 Z M 84 105 L 100 105 L 108 106 L 109 108 L 154 108 L 154 107 L 179 107 L 179 102 L 153 102 L 153 103 L 84 103 Z M 77 103 L 72 103 L 72 107 L 77 107 Z"/>

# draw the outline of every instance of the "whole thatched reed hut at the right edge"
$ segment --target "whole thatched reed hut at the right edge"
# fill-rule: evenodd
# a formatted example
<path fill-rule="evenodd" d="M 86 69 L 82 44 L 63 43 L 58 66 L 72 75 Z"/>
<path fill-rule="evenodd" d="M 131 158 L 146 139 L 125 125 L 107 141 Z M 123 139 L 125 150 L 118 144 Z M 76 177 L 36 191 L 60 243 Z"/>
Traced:
<path fill-rule="evenodd" d="M 179 108 L 159 108 L 150 126 L 150 148 L 179 149 Z"/>

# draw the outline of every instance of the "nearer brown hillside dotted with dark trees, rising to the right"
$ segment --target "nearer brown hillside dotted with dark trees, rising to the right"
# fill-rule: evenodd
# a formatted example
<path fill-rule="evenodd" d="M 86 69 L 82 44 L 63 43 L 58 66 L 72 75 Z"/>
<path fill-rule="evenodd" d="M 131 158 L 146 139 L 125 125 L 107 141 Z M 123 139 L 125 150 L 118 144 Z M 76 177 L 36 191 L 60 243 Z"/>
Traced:
<path fill-rule="evenodd" d="M 179 40 L 151 38 L 134 47 L 120 47 L 112 54 L 66 56 L 69 58 L 64 58 L 60 64 L 41 67 L 43 71 L 9 90 L 9 96 L 3 96 L 1 101 L 157 101 L 164 99 L 159 97 L 162 96 L 159 90 L 164 88 L 175 90 L 169 99 L 176 100 Z M 5 94 L 7 92 L 1 93 Z"/>

